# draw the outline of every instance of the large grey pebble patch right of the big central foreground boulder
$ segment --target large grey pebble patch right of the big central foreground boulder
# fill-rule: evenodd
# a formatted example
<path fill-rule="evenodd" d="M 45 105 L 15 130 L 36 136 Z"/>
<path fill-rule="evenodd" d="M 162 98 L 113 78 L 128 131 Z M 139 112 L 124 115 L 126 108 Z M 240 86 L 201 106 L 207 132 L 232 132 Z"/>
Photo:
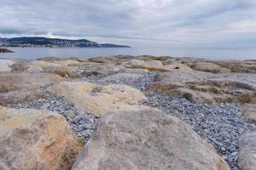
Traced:
<path fill-rule="evenodd" d="M 196 133 L 212 144 L 231 169 L 238 169 L 238 137 L 248 129 L 256 129 L 241 117 L 241 104 L 220 103 L 216 105 L 194 104 L 187 99 L 161 94 L 146 93 L 143 105 L 157 107 L 166 114 L 187 122 Z"/>

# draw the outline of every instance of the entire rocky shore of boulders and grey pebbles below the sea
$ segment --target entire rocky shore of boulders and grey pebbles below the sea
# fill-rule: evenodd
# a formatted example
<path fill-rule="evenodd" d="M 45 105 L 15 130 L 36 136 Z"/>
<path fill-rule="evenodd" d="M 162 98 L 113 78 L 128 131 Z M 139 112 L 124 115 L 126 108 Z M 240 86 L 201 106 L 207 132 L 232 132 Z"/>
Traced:
<path fill-rule="evenodd" d="M 0 169 L 256 167 L 256 60 L 0 59 Z"/>

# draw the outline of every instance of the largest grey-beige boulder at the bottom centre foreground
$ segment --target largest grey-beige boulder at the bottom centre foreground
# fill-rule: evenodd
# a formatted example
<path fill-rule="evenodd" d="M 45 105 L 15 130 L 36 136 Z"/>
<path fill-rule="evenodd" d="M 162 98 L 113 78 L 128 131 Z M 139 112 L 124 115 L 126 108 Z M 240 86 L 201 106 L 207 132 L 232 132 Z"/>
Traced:
<path fill-rule="evenodd" d="M 104 116 L 72 169 L 230 168 L 187 124 L 149 108 Z"/>

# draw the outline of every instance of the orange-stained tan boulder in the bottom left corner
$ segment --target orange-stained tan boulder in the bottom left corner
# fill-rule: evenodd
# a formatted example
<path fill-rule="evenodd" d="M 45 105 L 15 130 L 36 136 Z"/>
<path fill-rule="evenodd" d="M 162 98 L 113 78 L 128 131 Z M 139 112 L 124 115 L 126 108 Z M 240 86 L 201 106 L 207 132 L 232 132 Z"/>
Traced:
<path fill-rule="evenodd" d="M 70 169 L 82 146 L 54 112 L 0 106 L 0 169 Z"/>

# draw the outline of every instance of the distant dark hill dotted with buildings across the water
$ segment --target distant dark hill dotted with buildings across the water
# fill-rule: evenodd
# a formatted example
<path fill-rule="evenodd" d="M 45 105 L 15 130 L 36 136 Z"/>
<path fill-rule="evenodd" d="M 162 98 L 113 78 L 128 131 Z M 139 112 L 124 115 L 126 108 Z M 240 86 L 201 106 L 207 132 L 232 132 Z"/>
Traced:
<path fill-rule="evenodd" d="M 0 38 L 2 47 L 52 47 L 52 48 L 131 48 L 112 43 L 90 42 L 86 39 L 68 40 L 48 37 Z"/>

